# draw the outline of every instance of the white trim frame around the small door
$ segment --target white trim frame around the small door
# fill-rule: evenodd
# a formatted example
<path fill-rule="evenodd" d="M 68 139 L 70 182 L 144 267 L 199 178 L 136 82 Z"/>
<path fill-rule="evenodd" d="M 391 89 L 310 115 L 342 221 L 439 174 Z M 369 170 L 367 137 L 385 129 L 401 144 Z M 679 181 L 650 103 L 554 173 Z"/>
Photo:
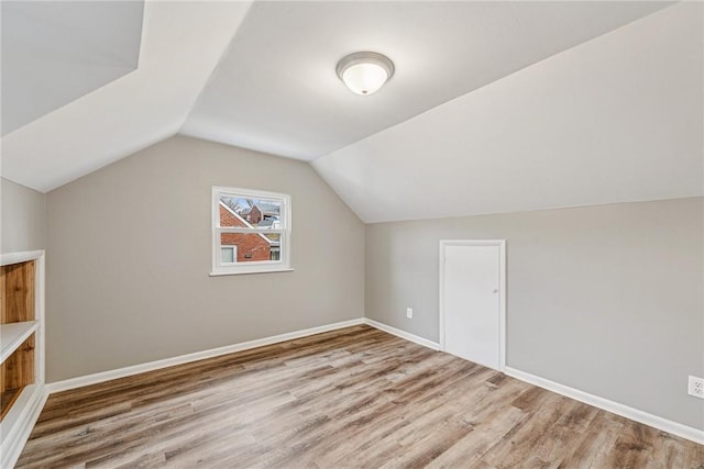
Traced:
<path fill-rule="evenodd" d="M 444 348 L 444 252 L 447 246 L 498 246 L 498 370 L 506 369 L 506 239 L 440 239 L 440 349 Z"/>

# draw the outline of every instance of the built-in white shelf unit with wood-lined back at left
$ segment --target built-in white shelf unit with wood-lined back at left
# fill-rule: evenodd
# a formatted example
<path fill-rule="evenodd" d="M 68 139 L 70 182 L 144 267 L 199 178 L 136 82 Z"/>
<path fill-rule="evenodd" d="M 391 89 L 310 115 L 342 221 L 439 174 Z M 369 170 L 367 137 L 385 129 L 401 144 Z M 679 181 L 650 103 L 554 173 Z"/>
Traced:
<path fill-rule="evenodd" d="M 0 467 L 12 467 L 46 399 L 44 252 L 0 264 Z"/>

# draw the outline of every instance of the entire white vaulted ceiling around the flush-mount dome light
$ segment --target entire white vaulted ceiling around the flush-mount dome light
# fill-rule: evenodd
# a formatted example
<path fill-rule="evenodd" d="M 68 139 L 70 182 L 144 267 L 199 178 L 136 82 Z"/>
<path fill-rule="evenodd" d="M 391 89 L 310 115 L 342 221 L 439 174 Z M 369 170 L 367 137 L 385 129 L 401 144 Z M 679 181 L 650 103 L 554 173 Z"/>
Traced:
<path fill-rule="evenodd" d="M 311 161 L 366 222 L 702 194 L 701 2 L 147 0 L 74 12 L 91 47 L 36 46 L 35 9 L 7 63 L 12 3 L 2 176 L 41 191 L 180 132 Z M 363 49 L 396 66 L 371 97 L 334 72 Z M 6 107 L 6 65 L 44 92 Z"/>

